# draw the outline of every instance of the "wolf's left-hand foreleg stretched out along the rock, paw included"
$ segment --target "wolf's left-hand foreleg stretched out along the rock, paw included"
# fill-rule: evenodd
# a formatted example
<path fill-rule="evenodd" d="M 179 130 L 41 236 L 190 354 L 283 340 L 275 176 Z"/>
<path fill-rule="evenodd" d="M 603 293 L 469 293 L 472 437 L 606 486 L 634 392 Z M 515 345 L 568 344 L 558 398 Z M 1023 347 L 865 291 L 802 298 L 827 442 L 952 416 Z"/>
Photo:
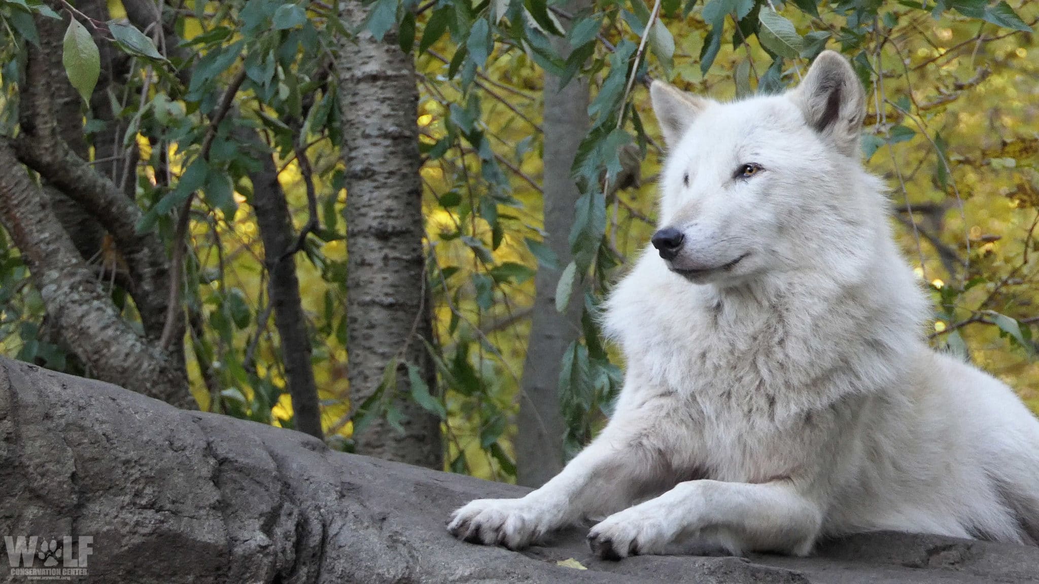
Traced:
<path fill-rule="evenodd" d="M 652 416 L 611 420 L 543 486 L 522 499 L 473 501 L 454 512 L 448 530 L 467 541 L 517 549 L 586 515 L 631 505 L 673 476 L 652 422 Z"/>

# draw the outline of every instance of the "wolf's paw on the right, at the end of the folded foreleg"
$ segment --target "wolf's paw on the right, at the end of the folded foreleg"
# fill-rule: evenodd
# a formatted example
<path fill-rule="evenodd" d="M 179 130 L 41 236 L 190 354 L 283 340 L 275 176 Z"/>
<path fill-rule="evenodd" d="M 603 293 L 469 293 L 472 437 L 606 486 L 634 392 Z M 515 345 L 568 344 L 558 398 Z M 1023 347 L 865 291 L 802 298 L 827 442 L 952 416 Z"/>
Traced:
<path fill-rule="evenodd" d="M 588 532 L 592 553 L 604 560 L 663 554 L 674 535 L 667 517 L 655 515 L 631 507 L 606 517 Z"/>

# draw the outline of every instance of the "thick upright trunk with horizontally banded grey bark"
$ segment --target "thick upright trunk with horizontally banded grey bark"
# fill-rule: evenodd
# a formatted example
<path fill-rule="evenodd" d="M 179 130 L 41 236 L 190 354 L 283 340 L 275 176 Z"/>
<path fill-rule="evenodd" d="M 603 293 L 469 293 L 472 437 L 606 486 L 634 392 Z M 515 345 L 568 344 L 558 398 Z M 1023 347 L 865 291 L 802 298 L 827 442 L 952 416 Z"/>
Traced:
<path fill-rule="evenodd" d="M 363 21 L 359 1 L 342 6 L 347 26 Z M 342 38 L 336 69 L 346 162 L 348 378 L 356 406 L 376 391 L 395 356 L 418 366 L 435 387 L 420 339 L 431 338 L 431 325 L 422 248 L 419 90 L 415 64 L 393 33 L 381 43 L 367 32 Z M 384 399 L 403 415 L 404 431 L 379 419 L 355 436 L 356 451 L 443 468 L 439 419 L 404 397 L 409 390 L 402 369 L 397 379 L 397 391 Z"/>

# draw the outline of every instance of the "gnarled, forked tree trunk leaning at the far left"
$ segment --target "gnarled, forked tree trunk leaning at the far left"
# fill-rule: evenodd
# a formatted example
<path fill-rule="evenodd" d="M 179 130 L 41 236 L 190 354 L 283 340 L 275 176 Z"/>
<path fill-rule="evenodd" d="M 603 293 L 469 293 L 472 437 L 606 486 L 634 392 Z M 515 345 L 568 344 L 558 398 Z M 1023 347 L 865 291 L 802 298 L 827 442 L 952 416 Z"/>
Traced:
<path fill-rule="evenodd" d="M 103 0 L 80 3 L 95 18 L 107 15 Z M 30 269 L 44 299 L 47 334 L 53 335 L 78 357 L 91 375 L 124 384 L 181 407 L 193 407 L 188 389 L 183 347 L 158 346 L 165 322 L 169 274 L 165 249 L 154 233 L 136 233 L 141 211 L 133 202 L 135 159 L 124 158 L 116 185 L 87 162 L 89 150 L 82 132 L 81 100 L 61 71 L 64 28 L 50 19 L 37 21 L 41 49 L 29 49 L 20 95 L 20 133 L 17 142 L 0 140 L 0 222 L 10 234 Z M 125 76 L 112 47 L 101 43 L 106 72 L 98 90 Z M 104 98 L 107 100 L 107 98 Z M 100 106 L 98 106 L 100 107 Z M 105 108 L 110 109 L 107 101 Z M 123 152 L 115 142 L 117 128 L 96 135 L 111 142 L 110 152 Z M 97 144 L 96 144 L 97 145 Z M 105 152 L 97 145 L 95 154 Z M 41 188 L 22 166 L 39 174 Z M 128 196 L 130 194 L 131 196 Z M 118 264 L 117 282 L 134 300 L 143 335 L 122 318 L 109 291 L 101 284 L 95 260 L 101 234 L 111 235 Z M 113 262 L 116 263 L 116 262 Z M 109 269 L 112 269 L 109 266 Z M 174 322 L 183 337 L 183 319 Z"/>

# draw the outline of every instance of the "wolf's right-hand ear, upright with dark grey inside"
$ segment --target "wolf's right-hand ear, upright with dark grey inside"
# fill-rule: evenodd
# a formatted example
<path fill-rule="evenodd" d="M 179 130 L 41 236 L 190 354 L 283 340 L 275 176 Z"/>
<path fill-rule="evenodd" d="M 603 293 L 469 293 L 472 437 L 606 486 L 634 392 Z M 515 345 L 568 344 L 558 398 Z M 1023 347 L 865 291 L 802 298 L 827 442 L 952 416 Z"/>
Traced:
<path fill-rule="evenodd" d="M 823 51 L 793 91 L 808 126 L 846 156 L 858 156 L 858 136 L 865 117 L 865 91 L 843 56 Z"/>

